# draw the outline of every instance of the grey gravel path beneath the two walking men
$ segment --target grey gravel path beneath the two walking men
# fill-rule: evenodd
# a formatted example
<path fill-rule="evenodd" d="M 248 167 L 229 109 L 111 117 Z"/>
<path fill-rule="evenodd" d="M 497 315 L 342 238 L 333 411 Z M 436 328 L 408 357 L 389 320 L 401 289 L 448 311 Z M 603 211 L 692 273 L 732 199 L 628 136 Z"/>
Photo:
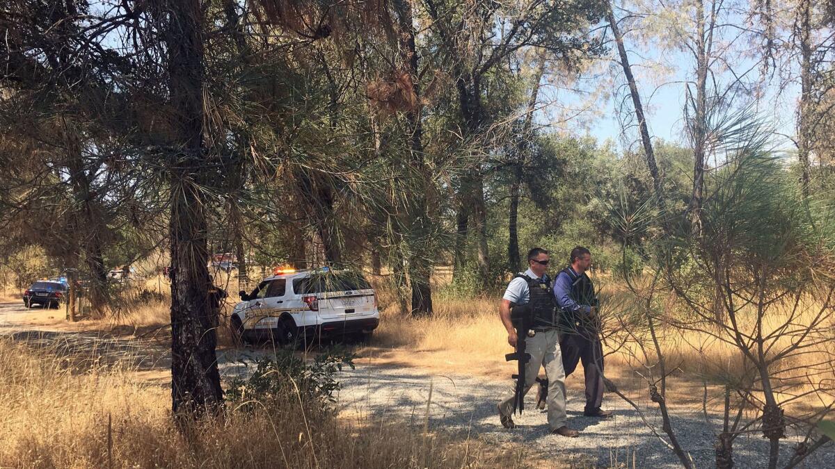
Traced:
<path fill-rule="evenodd" d="M 225 358 L 238 361 L 246 355 L 243 352 Z M 230 361 L 225 363 L 225 373 L 235 373 L 235 366 Z M 631 466 L 634 457 L 639 467 L 681 467 L 672 451 L 645 426 L 638 412 L 613 394 L 606 395 L 605 408 L 615 411 L 615 417 L 599 420 L 583 416 L 584 396 L 569 390 L 569 426 L 581 433 L 578 438 L 565 438 L 548 433 L 545 411 L 534 408 L 535 388 L 525 401 L 524 414 L 514 416 L 517 428 L 505 430 L 499 424 L 496 404 L 508 391 L 509 380 L 439 374 L 413 367 L 369 365 L 363 364 L 362 359 L 356 370 L 342 371 L 338 376 L 342 384 L 338 402 L 343 412 L 387 421 L 401 420 L 423 427 L 431 383 L 429 426 L 433 429 L 478 437 L 496 445 L 509 441 L 521 443 L 560 466 L 610 467 L 614 461 L 628 462 Z M 569 380 L 577 379 L 580 378 L 569 377 Z M 657 406 L 648 399 L 638 404 L 660 432 Z M 676 435 L 697 467 L 715 466 L 713 441 L 714 431 L 721 428 L 719 418 L 711 416 L 708 422 L 701 411 L 676 411 L 673 421 Z M 797 438 L 792 440 L 799 441 Z M 792 445 L 786 441 L 782 446 L 781 459 L 787 461 Z M 734 446 L 736 467 L 763 467 L 762 455 L 767 452 L 767 441 L 758 432 L 741 436 Z M 824 446 L 807 458 L 805 466 L 835 467 L 835 445 Z"/>

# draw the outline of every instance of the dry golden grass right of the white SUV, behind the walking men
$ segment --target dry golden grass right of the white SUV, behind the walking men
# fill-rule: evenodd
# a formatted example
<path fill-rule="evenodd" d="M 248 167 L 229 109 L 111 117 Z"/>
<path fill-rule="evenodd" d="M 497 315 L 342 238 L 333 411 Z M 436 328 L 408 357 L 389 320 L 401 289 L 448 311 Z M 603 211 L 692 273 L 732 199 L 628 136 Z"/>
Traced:
<path fill-rule="evenodd" d="M 617 294 L 617 285 L 610 285 L 606 293 L 611 302 L 625 301 Z M 400 361 L 428 368 L 441 368 L 448 371 L 475 373 L 491 377 L 506 377 L 512 364 L 504 361 L 504 354 L 509 353 L 507 335 L 498 320 L 498 296 L 492 298 L 468 300 L 436 300 L 436 312 L 430 318 L 412 318 L 397 309 L 393 293 L 384 286 L 381 290 L 382 305 L 387 307 L 381 313 L 381 325 L 377 330 L 372 345 L 379 349 L 368 350 L 372 356 L 382 361 Z M 613 310 L 624 305 L 615 305 Z M 792 321 L 794 329 L 802 328 L 812 321 L 817 309 L 808 305 L 807 312 L 798 315 Z M 769 334 L 785 322 L 789 313 L 775 311 L 763 324 L 764 334 Z M 751 318 L 741 318 L 741 321 Z M 835 330 L 835 327 L 832 327 Z M 668 389 L 672 405 L 698 405 L 701 407 L 704 386 L 710 390 L 710 399 L 721 394 L 724 383 L 742 376 L 746 366 L 741 351 L 726 341 L 718 340 L 705 331 L 682 330 L 673 325 L 660 325 L 660 345 L 667 362 L 673 370 Z M 617 340 L 610 340 L 605 347 L 606 374 L 618 382 L 621 388 L 635 392 L 646 391 L 646 383 L 640 375 L 645 375 L 646 367 L 653 366 L 651 343 L 648 335 L 639 333 L 625 346 Z M 775 342 L 775 350 L 788 344 L 788 337 L 781 337 Z M 640 346 L 650 347 L 650 359 L 643 356 Z M 779 376 L 786 381 L 796 381 L 792 387 L 794 395 L 809 393 L 802 399 L 792 402 L 795 410 L 821 408 L 832 402 L 832 397 L 821 392 L 825 383 L 835 382 L 835 367 L 832 366 L 835 345 L 832 342 L 816 345 L 802 356 L 782 361 L 774 367 Z M 807 365 L 818 365 L 810 373 Z M 827 365 L 828 364 L 828 365 Z M 639 375 L 640 373 L 640 375 Z M 569 380 L 569 387 L 581 386 L 579 379 Z M 793 385 L 792 385 L 793 386 Z M 782 396 L 789 400 L 791 396 Z M 716 405 L 720 401 L 716 400 Z M 711 406 L 711 402 L 707 403 Z"/>

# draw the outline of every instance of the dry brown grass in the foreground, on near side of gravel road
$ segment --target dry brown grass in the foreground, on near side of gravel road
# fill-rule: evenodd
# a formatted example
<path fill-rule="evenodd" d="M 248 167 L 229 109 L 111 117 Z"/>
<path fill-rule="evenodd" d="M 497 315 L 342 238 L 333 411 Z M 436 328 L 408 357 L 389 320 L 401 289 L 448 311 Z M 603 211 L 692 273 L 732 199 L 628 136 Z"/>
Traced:
<path fill-rule="evenodd" d="M 56 350 L 0 340 L 0 466 L 8 467 L 483 467 L 521 466 L 519 451 L 403 426 L 339 419 L 288 396 L 254 413 L 181 432 L 170 391 L 129 368 L 76 366 Z"/>

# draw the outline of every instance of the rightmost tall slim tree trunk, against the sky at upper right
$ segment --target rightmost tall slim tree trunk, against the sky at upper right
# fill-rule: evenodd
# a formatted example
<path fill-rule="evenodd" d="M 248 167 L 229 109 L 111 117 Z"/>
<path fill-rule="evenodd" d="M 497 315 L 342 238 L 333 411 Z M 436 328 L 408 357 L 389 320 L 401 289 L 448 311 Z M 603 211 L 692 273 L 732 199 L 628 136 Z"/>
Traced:
<path fill-rule="evenodd" d="M 812 5 L 811 0 L 801 0 L 797 9 L 800 27 L 800 107 L 797 119 L 797 157 L 800 159 L 803 195 L 809 195 L 812 180 L 809 171 L 809 151 L 812 143 L 809 122 L 812 113 Z"/>

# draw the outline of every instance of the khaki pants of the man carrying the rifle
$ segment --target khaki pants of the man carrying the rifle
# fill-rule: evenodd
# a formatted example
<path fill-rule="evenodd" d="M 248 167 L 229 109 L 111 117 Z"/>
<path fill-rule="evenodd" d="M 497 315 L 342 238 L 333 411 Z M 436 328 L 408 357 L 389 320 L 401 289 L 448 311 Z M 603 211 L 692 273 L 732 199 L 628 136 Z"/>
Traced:
<path fill-rule="evenodd" d="M 525 351 L 530 354 L 530 361 L 524 371 L 524 393 L 527 395 L 534 386 L 539 366 L 544 366 L 545 376 L 548 377 L 548 426 L 554 431 L 564 426 L 568 418 L 565 414 L 565 371 L 559 350 L 559 334 L 556 330 L 537 332 L 528 337 L 526 344 Z M 498 404 L 498 411 L 505 416 L 513 412 L 515 392 L 514 382 L 509 394 Z"/>

